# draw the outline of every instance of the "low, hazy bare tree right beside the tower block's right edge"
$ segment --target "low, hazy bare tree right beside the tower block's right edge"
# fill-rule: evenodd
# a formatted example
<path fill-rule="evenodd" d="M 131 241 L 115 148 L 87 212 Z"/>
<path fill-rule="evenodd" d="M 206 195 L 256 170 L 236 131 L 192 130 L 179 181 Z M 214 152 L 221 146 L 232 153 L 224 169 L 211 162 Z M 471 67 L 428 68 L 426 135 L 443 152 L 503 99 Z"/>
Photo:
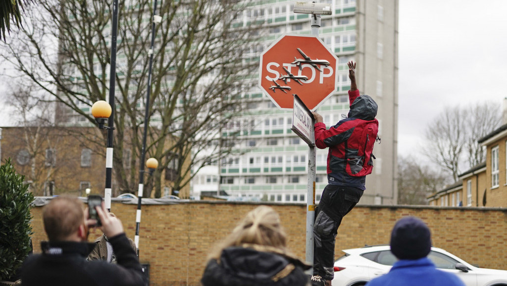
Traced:
<path fill-rule="evenodd" d="M 447 176 L 414 158 L 398 158 L 398 204 L 427 204 L 426 197 L 444 187 Z"/>

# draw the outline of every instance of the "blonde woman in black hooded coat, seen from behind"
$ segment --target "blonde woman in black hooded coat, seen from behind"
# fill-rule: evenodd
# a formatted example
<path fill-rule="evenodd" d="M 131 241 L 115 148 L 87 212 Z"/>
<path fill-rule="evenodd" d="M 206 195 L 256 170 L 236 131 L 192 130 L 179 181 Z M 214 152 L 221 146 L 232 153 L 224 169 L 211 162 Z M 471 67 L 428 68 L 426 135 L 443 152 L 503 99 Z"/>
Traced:
<path fill-rule="evenodd" d="M 247 213 L 208 257 L 204 286 L 309 285 L 310 266 L 288 253 L 276 211 L 259 206 Z"/>

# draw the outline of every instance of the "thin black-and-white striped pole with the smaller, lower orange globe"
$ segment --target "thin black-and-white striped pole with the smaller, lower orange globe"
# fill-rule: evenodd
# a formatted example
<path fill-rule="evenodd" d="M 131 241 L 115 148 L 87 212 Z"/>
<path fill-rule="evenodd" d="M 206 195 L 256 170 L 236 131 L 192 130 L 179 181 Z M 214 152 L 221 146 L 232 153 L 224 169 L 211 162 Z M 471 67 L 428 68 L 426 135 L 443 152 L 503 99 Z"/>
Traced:
<path fill-rule="evenodd" d="M 142 150 L 141 150 L 141 166 L 139 168 L 139 188 L 137 190 L 137 212 L 135 215 L 135 236 L 134 242 L 137 248 L 137 256 L 139 256 L 139 226 L 141 224 L 141 200 L 144 190 L 144 158 L 146 157 L 146 137 L 148 133 L 149 112 L 150 112 L 150 91 L 152 89 L 152 67 L 153 67 L 153 46 L 155 45 L 155 24 L 162 21 L 162 17 L 156 15 L 157 0 L 153 3 L 153 19 L 152 19 L 152 41 L 148 54 L 150 55 L 150 63 L 148 66 L 148 88 L 146 91 L 146 104 L 144 104 L 144 131 L 142 134 Z M 153 173 L 158 166 L 158 161 L 155 158 L 150 158 L 146 161 L 146 166 L 150 169 L 150 174 Z"/>

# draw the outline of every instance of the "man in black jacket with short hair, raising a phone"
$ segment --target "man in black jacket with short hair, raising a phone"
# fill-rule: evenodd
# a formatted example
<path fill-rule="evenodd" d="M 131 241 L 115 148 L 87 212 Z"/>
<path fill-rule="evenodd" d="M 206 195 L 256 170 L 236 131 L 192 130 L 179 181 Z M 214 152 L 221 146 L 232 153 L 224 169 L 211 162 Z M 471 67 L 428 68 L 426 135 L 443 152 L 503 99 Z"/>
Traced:
<path fill-rule="evenodd" d="M 100 230 L 109 238 L 118 264 L 86 261 L 94 246 L 88 229 L 96 220 L 77 197 L 59 196 L 43 209 L 44 230 L 49 241 L 42 254 L 29 256 L 22 266 L 23 285 L 146 285 L 141 265 L 123 230 L 121 221 L 107 215 L 104 203 L 95 207 Z"/>

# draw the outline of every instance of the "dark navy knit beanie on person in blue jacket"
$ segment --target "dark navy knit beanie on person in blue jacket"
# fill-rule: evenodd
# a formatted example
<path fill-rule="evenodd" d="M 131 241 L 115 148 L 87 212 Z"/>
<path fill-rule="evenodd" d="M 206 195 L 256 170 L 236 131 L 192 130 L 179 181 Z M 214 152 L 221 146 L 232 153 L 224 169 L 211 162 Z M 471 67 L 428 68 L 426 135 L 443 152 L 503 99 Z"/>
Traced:
<path fill-rule="evenodd" d="M 405 217 L 394 225 L 390 245 L 392 254 L 398 259 L 426 257 L 431 248 L 429 228 L 418 218 Z"/>

